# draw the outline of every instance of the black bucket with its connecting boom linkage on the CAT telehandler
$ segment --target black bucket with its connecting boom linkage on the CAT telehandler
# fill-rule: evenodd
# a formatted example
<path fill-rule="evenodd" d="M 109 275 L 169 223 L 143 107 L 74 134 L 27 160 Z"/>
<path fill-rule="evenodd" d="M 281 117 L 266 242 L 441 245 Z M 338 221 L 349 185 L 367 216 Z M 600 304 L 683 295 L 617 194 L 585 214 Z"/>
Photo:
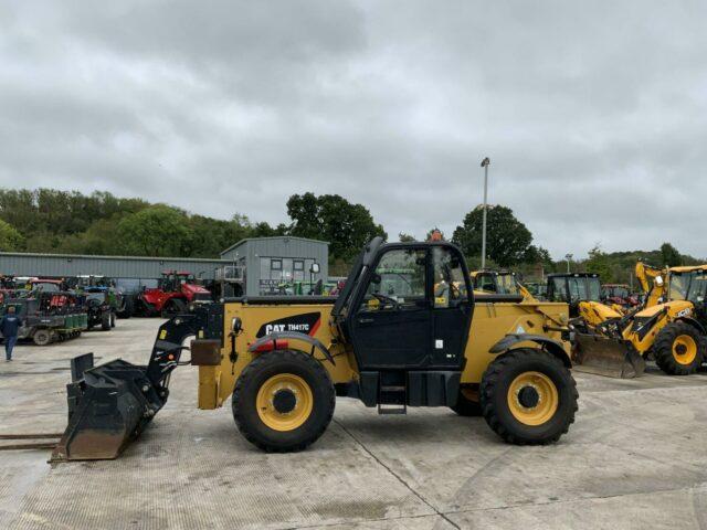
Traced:
<path fill-rule="evenodd" d="M 147 365 L 116 359 L 94 367 L 93 353 L 72 359 L 68 425 L 51 462 L 116 458 L 167 403 L 169 377 L 180 364 L 184 339 L 194 335 L 220 339 L 207 328 L 218 322 L 213 329 L 223 332 L 221 311 L 219 306 L 199 307 L 162 324 Z"/>

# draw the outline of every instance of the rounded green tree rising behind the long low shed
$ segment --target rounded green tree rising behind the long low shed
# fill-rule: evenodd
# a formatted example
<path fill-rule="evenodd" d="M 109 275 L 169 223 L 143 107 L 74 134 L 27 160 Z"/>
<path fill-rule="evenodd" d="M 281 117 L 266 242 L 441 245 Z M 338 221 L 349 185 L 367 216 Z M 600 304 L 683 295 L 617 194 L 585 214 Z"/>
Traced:
<path fill-rule="evenodd" d="M 187 214 L 165 204 L 126 216 L 116 232 L 120 251 L 135 256 L 190 256 L 196 237 Z"/>

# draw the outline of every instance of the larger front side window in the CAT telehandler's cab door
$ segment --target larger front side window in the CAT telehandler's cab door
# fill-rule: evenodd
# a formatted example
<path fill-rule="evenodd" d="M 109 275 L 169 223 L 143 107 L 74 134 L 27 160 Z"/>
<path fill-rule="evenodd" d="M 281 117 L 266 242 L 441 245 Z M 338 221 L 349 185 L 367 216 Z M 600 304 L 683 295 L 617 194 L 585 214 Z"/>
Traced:
<path fill-rule="evenodd" d="M 360 311 L 422 309 L 426 303 L 426 253 L 423 250 L 388 251 L 378 262 Z"/>

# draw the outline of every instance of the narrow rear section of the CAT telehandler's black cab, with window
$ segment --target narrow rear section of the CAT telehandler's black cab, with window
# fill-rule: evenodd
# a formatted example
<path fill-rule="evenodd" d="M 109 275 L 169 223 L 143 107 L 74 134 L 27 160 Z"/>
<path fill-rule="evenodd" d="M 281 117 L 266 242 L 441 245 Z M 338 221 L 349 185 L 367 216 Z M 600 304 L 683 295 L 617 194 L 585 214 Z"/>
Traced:
<path fill-rule="evenodd" d="M 434 278 L 431 365 L 461 370 L 474 308 L 468 274 L 455 247 L 433 246 L 431 253 Z"/>

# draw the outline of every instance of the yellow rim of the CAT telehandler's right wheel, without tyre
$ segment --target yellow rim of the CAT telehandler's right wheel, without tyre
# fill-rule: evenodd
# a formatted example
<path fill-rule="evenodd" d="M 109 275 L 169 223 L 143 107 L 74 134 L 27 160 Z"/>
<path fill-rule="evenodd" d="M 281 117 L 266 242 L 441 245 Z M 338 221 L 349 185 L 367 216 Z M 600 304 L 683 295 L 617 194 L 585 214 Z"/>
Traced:
<path fill-rule="evenodd" d="M 508 409 L 525 425 L 542 425 L 557 412 L 560 403 L 557 386 L 540 372 L 524 372 L 508 388 Z"/>

